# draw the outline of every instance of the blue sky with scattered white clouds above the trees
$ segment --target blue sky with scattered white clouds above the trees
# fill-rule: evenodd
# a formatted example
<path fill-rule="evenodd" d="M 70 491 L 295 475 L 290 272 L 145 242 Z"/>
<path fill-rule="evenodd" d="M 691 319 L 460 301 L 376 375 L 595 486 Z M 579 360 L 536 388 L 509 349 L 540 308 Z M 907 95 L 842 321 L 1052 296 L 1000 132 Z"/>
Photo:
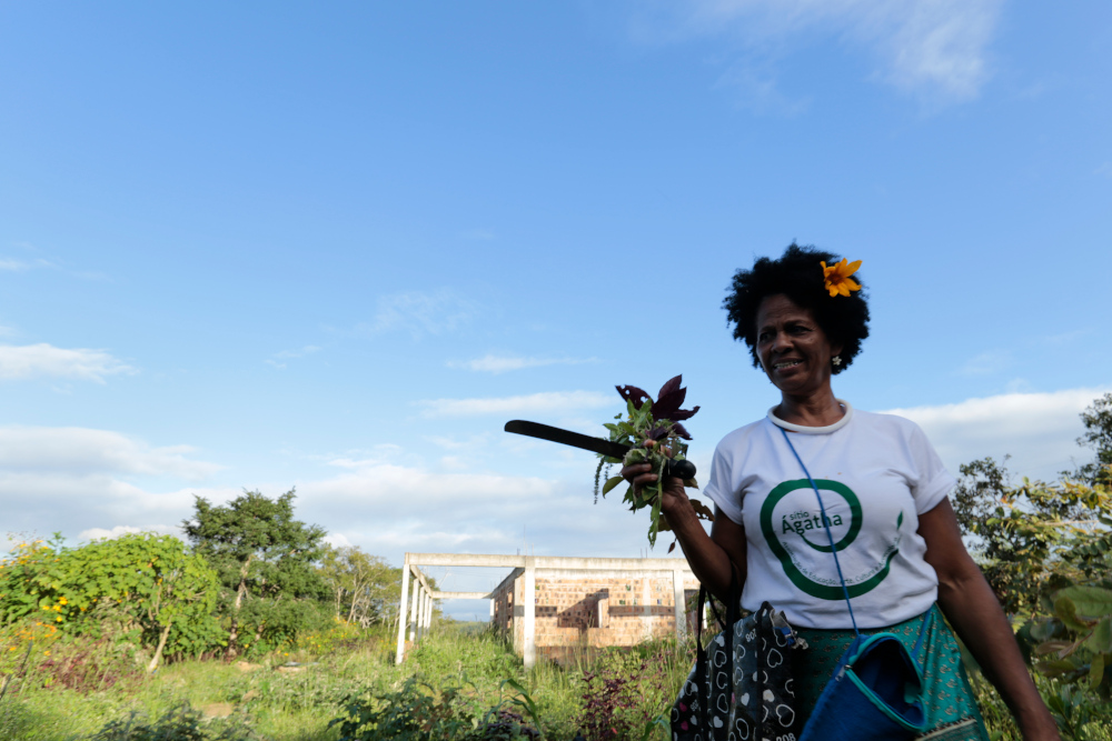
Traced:
<path fill-rule="evenodd" d="M 1095 1 L 0 3 L 0 530 L 296 485 L 395 562 L 636 555 L 502 424 L 682 372 L 708 461 L 793 239 L 864 261 L 838 395 L 1051 477 L 1112 389 L 1110 50 Z"/>

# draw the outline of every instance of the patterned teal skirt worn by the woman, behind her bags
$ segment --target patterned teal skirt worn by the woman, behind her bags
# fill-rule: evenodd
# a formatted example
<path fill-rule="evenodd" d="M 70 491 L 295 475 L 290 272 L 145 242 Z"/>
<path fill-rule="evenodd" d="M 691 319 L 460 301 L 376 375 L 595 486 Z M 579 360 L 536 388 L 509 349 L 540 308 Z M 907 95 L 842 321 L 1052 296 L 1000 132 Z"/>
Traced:
<path fill-rule="evenodd" d="M 942 611 L 935 604 L 927 612 L 887 628 L 863 630 L 862 634 L 890 632 L 911 653 L 926 615 L 934 612 L 923 640 L 923 703 L 926 710 L 927 731 L 919 737 L 930 741 L 989 741 L 981 711 L 973 699 L 962 654 L 954 634 L 950 632 Z M 852 630 L 818 630 L 798 628 L 800 638 L 807 642 L 805 651 L 795 651 L 795 701 L 797 711 L 806 719 L 818 701 L 823 688 L 834 674 L 834 667 L 853 641 Z M 925 660 L 924 660 L 925 654 Z"/>

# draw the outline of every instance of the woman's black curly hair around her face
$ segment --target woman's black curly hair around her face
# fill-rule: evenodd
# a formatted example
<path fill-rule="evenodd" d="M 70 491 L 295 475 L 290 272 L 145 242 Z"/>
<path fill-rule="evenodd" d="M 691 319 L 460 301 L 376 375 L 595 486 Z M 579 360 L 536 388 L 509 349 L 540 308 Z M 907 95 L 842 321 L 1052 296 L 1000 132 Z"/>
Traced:
<path fill-rule="evenodd" d="M 832 297 L 826 290 L 820 262 L 832 266 L 838 260 L 832 252 L 792 242 L 778 260 L 761 258 L 751 270 L 734 273 L 722 308 L 727 313 L 726 322 L 734 326 L 734 339 L 749 346 L 754 368 L 761 367 L 757 310 L 765 298 L 781 293 L 796 306 L 810 309 L 831 343 L 842 346 L 842 364 L 832 371 L 841 373 L 850 367 L 861 352 L 862 341 L 868 337 L 868 302 L 864 297 L 864 283 L 862 290 L 848 297 Z M 861 273 L 854 273 L 853 279 L 861 283 Z"/>

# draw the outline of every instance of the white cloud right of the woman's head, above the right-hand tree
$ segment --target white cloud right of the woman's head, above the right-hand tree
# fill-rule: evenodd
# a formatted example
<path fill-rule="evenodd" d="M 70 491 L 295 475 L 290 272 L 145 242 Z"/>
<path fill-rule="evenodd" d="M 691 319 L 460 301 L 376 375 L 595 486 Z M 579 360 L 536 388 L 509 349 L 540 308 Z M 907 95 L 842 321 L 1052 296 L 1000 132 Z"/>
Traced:
<path fill-rule="evenodd" d="M 1068 389 L 1051 393 L 1005 393 L 955 404 L 893 409 L 926 432 L 946 468 L 985 455 L 1020 475 L 1053 480 L 1072 461 L 1092 454 L 1076 444 L 1084 428 L 1079 414 L 1109 389 Z"/>

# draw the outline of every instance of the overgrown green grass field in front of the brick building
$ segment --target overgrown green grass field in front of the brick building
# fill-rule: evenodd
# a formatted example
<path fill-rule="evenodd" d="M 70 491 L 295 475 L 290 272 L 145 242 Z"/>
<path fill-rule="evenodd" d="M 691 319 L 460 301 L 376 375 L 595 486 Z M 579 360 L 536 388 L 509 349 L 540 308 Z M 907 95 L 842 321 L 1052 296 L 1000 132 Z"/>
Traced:
<path fill-rule="evenodd" d="M 56 644 L 54 653 L 62 655 L 66 648 Z M 354 737 L 359 739 L 424 739 L 428 732 L 513 738 L 513 729 L 483 730 L 484 718 L 496 719 L 490 711 L 499 707 L 523 717 L 526 727 L 539 725 L 553 741 L 570 741 L 580 730 L 588 739 L 642 739 L 646 729 L 648 738 L 666 739 L 651 722 L 671 705 L 692 657 L 691 645 L 659 641 L 580 653 L 565 667 L 542 662 L 526 672 L 499 637 L 476 625 L 447 624 L 411 650 L 400 668 L 385 632 L 350 631 L 310 635 L 297 650 L 250 664 L 182 661 L 151 677 L 123 672 L 113 677 L 115 685 L 100 689 L 96 677 L 67 689 L 60 685 L 59 665 L 39 664 L 0 699 L 0 739 L 338 741 L 341 727 L 329 728 L 329 722 L 345 715 L 357 698 L 364 698 L 357 709 L 395 712 L 394 725 L 381 721 L 384 730 Z M 299 665 L 285 667 L 289 662 Z M 99 665 L 109 672 L 112 664 L 102 660 Z M 505 684 L 507 679 L 525 690 L 532 714 L 526 697 Z M 1019 739 L 995 693 L 975 678 L 974 684 L 994 738 Z M 1076 721 L 1066 738 L 1112 741 L 1109 719 L 1092 715 L 1085 698 L 1050 684 L 1043 689 L 1059 700 L 1065 692 L 1063 712 Z"/>

